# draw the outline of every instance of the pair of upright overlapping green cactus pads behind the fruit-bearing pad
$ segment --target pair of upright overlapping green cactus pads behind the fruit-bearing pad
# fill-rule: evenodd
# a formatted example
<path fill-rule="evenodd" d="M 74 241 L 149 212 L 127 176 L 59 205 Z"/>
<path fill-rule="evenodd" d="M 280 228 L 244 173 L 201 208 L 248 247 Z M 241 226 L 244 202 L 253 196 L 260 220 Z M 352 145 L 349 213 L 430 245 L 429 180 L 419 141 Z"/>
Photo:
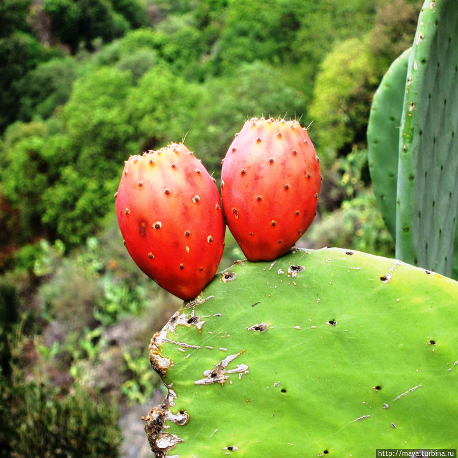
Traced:
<path fill-rule="evenodd" d="M 427 0 L 408 69 L 406 51 L 382 80 L 367 130 L 371 177 L 392 234 L 395 228 L 396 257 L 445 275 L 452 273 L 453 245 L 458 248 L 458 48 L 452 42 L 457 33 L 456 2 Z M 394 197 L 390 174 L 396 168 Z"/>

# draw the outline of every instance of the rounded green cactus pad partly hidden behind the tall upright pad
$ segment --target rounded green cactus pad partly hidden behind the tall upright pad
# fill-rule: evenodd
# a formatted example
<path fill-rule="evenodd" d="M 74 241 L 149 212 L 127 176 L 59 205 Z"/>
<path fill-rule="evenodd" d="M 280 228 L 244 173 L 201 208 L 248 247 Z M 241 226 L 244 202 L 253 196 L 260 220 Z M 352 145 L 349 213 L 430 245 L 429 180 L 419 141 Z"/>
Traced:
<path fill-rule="evenodd" d="M 410 48 L 390 66 L 374 95 L 367 125 L 370 178 L 388 230 L 396 237 L 396 187 L 399 127 Z"/>

